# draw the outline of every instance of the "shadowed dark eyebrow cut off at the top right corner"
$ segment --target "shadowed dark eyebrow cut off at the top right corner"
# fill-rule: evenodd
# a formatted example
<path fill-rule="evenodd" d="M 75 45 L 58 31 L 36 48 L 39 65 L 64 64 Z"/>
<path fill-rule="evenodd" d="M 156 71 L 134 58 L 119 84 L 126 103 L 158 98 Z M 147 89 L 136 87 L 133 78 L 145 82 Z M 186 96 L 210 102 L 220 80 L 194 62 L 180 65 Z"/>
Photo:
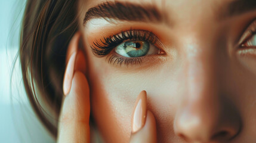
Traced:
<path fill-rule="evenodd" d="M 223 20 L 227 17 L 248 13 L 253 10 L 256 10 L 256 0 L 235 0 L 227 4 L 227 8 L 220 19 Z"/>

